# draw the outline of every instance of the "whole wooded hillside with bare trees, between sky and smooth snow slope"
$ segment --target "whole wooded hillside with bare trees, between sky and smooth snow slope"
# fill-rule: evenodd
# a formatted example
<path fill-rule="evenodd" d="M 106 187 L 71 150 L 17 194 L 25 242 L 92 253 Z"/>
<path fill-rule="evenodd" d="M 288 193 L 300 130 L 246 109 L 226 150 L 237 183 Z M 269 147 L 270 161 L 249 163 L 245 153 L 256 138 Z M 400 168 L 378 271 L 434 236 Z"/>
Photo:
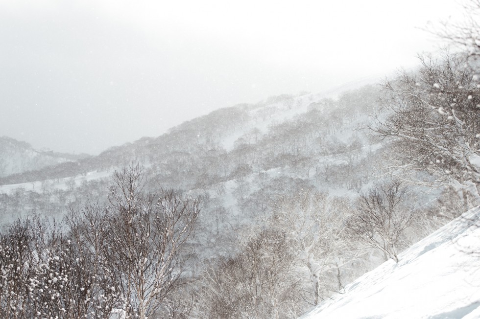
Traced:
<path fill-rule="evenodd" d="M 421 56 L 336 98 L 272 96 L 12 170 L 0 179 L 5 318 L 296 318 L 401 265 L 480 204 L 471 58 Z"/>

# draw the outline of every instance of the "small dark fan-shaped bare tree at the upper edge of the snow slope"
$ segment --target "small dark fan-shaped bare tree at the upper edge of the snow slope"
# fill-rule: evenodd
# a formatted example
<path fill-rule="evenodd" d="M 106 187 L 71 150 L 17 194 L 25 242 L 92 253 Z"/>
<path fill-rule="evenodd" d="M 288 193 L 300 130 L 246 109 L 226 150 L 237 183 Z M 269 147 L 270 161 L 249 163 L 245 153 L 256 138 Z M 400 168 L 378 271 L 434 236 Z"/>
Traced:
<path fill-rule="evenodd" d="M 407 190 L 399 181 L 377 184 L 357 200 L 357 212 L 347 219 L 346 228 L 360 239 L 398 263 L 398 249 L 404 231 L 412 225 L 415 210 L 406 205 Z"/>

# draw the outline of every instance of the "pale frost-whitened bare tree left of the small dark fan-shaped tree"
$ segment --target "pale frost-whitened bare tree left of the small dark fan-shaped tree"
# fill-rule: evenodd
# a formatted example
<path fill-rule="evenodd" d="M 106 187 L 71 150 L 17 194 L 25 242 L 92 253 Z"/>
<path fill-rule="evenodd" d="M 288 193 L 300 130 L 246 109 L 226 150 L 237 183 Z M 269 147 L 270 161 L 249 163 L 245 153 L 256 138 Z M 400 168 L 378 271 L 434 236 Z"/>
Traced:
<path fill-rule="evenodd" d="M 344 198 L 312 190 L 276 201 L 269 227 L 284 234 L 297 265 L 309 283 L 306 299 L 317 305 L 343 288 L 342 271 L 358 257 L 344 233 L 344 215 L 350 204 Z M 298 274 L 300 276 L 300 274 Z"/>

